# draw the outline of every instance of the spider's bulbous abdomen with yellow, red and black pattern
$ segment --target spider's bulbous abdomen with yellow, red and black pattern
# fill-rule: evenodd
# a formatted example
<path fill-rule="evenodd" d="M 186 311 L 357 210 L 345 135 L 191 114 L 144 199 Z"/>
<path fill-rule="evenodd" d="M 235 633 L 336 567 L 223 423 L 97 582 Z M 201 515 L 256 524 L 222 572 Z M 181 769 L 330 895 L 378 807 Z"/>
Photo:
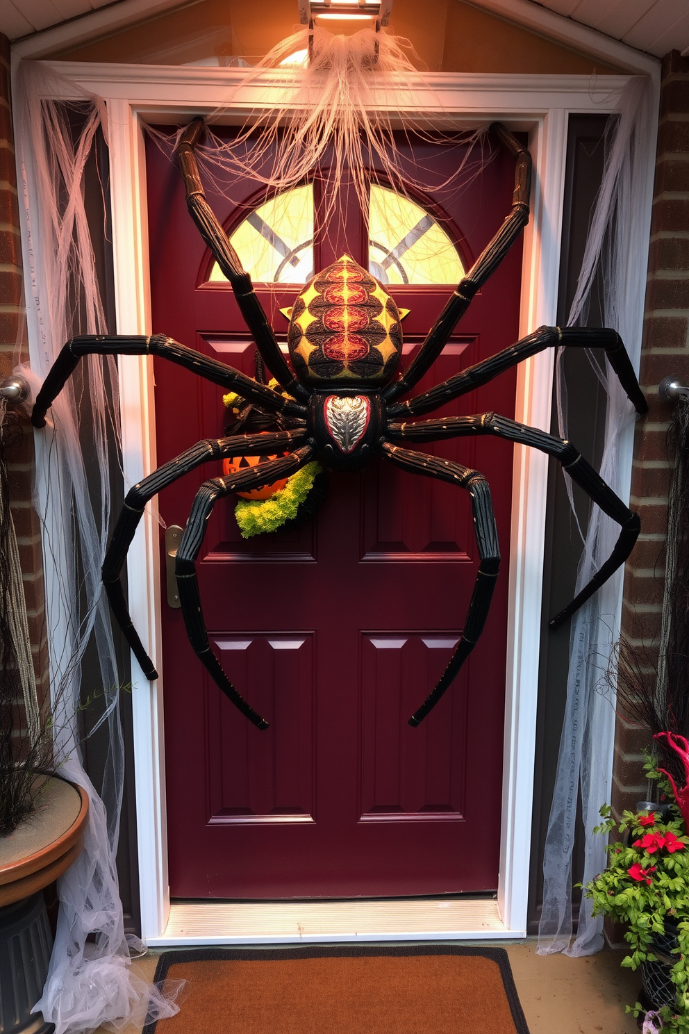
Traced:
<path fill-rule="evenodd" d="M 343 255 L 296 299 L 288 342 L 303 383 L 386 383 L 402 353 L 400 314 L 378 281 Z"/>

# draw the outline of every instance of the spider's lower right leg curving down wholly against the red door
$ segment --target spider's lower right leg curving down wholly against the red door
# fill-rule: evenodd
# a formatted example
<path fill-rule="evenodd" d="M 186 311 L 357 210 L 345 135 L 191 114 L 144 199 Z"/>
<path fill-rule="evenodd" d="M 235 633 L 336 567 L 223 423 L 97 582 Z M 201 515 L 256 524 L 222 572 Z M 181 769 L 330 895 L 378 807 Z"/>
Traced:
<path fill-rule="evenodd" d="M 384 443 L 381 449 L 383 455 L 397 466 L 401 466 L 403 470 L 422 474 L 428 478 L 438 478 L 440 481 L 448 481 L 452 485 L 459 485 L 460 488 L 466 488 L 471 496 L 474 534 L 478 546 L 478 572 L 464 621 L 462 638 L 455 647 L 455 652 L 440 676 L 438 685 L 409 719 L 409 725 L 416 726 L 435 707 L 445 690 L 451 685 L 483 631 L 500 567 L 498 529 L 493 516 L 491 489 L 488 481 L 478 470 L 460 466 L 459 463 L 452 463 L 449 460 L 438 459 L 436 456 L 429 456 L 427 453 L 400 449 L 388 443 Z"/>

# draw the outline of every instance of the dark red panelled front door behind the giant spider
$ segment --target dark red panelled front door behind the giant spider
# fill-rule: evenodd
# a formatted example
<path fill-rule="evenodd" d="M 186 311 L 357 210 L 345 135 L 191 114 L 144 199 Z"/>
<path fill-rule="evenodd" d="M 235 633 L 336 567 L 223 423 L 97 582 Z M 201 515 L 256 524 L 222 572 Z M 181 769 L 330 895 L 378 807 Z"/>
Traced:
<path fill-rule="evenodd" d="M 457 160 L 446 148 L 424 144 L 418 151 L 436 166 Z M 231 291 L 208 282 L 212 260 L 186 212 L 181 177 L 155 146 L 148 182 L 153 331 L 253 374 L 254 346 Z M 441 199 L 465 266 L 509 211 L 512 189 L 512 159 L 500 154 L 469 187 Z M 246 216 L 251 191 L 240 182 L 231 200 L 209 193 L 228 232 Z M 438 212 L 438 196 L 417 200 Z M 346 201 L 346 250 L 365 265 L 363 219 Z M 342 239 L 317 232 L 320 268 L 338 249 L 345 249 Z M 520 276 L 518 245 L 418 391 L 516 339 Z M 299 290 L 259 292 L 282 340 L 280 309 Z M 408 362 L 451 288 L 388 290 L 410 309 L 403 325 Z M 155 375 L 159 463 L 223 433 L 218 388 L 158 360 Z M 513 417 L 513 371 L 442 412 L 487 409 Z M 250 726 L 216 689 L 187 642 L 181 612 L 163 603 L 173 896 L 497 887 L 511 447 L 475 438 L 434 451 L 488 476 L 503 565 L 481 641 L 417 729 L 407 719 L 447 663 L 474 583 L 466 493 L 374 461 L 363 475 L 331 476 L 317 517 L 295 533 L 244 542 L 234 500 L 216 507 L 198 564 L 211 641 L 270 729 Z M 194 492 L 218 473 L 207 464 L 161 493 L 165 522 L 184 525 Z"/>

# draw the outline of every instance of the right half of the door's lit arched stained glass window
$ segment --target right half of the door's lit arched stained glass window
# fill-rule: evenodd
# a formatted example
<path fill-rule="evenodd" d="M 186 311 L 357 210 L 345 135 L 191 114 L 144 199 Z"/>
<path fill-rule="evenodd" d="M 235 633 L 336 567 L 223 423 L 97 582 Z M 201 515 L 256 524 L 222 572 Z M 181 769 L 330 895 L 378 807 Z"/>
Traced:
<path fill-rule="evenodd" d="M 381 283 L 459 283 L 464 267 L 440 224 L 409 197 L 371 184 L 369 271 Z"/>

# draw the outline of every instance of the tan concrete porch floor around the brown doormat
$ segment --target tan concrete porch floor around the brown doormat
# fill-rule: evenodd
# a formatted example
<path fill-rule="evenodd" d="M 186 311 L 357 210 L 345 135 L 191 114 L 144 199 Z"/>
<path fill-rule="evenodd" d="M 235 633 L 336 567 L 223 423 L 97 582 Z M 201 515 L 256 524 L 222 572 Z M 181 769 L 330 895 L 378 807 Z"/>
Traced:
<path fill-rule="evenodd" d="M 530 1034 L 637 1034 L 636 1021 L 624 1006 L 636 1001 L 639 975 L 620 968 L 623 951 L 567 959 L 537 955 L 535 938 L 491 944 L 507 949 Z M 135 971 L 153 979 L 160 953 L 149 951 L 134 963 Z M 107 1032 L 99 1027 L 95 1034 Z M 128 1027 L 122 1034 L 140 1034 L 140 1028 Z"/>

